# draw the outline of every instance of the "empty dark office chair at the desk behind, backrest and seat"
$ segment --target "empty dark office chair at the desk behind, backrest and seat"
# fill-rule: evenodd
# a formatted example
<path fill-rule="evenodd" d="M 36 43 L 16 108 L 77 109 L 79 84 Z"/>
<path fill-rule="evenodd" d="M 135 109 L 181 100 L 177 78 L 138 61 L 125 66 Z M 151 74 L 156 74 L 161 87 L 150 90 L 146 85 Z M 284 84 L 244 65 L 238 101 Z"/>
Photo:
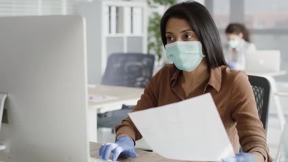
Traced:
<path fill-rule="evenodd" d="M 144 88 L 152 78 L 154 55 L 117 53 L 108 57 L 103 85 Z M 134 106 L 123 105 L 121 110 L 98 114 L 97 127 L 113 128 L 127 117 Z"/>

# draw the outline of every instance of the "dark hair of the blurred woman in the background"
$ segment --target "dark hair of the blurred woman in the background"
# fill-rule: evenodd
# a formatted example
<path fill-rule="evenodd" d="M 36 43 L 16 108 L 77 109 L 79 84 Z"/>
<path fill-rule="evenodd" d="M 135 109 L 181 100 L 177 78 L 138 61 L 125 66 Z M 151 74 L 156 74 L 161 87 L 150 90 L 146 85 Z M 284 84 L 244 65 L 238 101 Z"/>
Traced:
<path fill-rule="evenodd" d="M 242 23 L 230 23 L 226 30 L 226 34 L 240 34 L 243 33 L 243 39 L 245 41 L 251 42 L 250 34 L 246 26 Z"/>

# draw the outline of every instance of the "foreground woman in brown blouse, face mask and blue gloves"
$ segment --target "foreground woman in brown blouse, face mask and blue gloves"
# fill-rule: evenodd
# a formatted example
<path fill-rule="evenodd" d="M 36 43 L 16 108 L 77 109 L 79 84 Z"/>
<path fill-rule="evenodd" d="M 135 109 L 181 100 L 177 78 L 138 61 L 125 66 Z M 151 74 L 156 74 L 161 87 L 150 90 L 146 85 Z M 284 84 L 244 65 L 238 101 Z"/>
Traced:
<path fill-rule="evenodd" d="M 132 111 L 211 93 L 237 153 L 223 162 L 272 162 L 248 77 L 243 71 L 226 66 L 217 27 L 205 6 L 195 1 L 176 4 L 165 12 L 160 26 L 167 57 L 173 64 L 165 65 L 149 81 Z M 103 144 L 99 155 L 107 160 L 113 152 L 113 161 L 120 154 L 136 158 L 135 141 L 142 135 L 131 119 L 127 117 L 115 129 L 116 142 Z M 239 153 L 239 142 L 242 153 Z M 177 148 L 177 151 L 182 150 Z"/>

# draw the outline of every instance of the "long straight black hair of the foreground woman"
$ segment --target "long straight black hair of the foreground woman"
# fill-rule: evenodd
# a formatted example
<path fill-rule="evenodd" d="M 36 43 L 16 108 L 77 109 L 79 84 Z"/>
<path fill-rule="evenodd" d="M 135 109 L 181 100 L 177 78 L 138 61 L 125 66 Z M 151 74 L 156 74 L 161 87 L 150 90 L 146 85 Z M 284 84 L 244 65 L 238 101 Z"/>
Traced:
<path fill-rule="evenodd" d="M 217 27 L 205 6 L 190 0 L 168 8 L 160 24 L 161 38 L 164 45 L 167 44 L 166 24 L 170 18 L 184 19 L 189 23 L 202 43 L 209 67 L 227 65 Z"/>

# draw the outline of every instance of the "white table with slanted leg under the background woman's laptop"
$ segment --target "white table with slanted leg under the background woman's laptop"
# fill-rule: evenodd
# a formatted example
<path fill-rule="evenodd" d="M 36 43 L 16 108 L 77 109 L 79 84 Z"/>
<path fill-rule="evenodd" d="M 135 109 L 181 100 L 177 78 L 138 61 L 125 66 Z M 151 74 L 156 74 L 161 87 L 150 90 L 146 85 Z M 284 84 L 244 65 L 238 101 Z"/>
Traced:
<path fill-rule="evenodd" d="M 283 109 L 280 103 L 279 95 L 277 95 L 279 92 L 277 91 L 277 85 L 276 81 L 273 77 L 276 76 L 281 76 L 285 75 L 286 71 L 277 71 L 277 72 L 257 72 L 257 71 L 246 71 L 247 75 L 252 75 L 252 76 L 260 76 L 260 77 L 265 77 L 267 80 L 270 81 L 271 84 L 271 102 L 270 102 L 270 107 L 272 103 L 274 103 L 276 111 L 277 111 L 277 116 L 280 121 L 280 127 L 282 130 L 284 130 L 284 125 L 286 123 L 285 120 L 285 115 L 283 113 Z"/>

